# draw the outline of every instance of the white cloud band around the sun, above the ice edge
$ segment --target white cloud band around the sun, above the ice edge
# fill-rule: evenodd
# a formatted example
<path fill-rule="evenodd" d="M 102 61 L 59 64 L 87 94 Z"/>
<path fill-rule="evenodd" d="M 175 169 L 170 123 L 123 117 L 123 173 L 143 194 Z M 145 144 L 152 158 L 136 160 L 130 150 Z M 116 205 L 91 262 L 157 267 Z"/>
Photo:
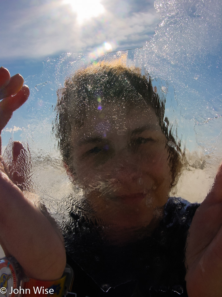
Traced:
<path fill-rule="evenodd" d="M 153 1 L 153 0 L 152 0 Z M 149 3 L 149 2 L 148 2 Z M 89 53 L 104 42 L 113 50 L 141 47 L 154 33 L 159 15 L 150 4 L 104 0 L 104 13 L 77 22 L 77 14 L 62 0 L 12 8 L 5 5 L 0 20 L 1 58 L 38 58 L 61 52 Z M 134 3 L 135 4 L 135 3 Z M 135 10 L 136 7 L 136 11 Z"/>

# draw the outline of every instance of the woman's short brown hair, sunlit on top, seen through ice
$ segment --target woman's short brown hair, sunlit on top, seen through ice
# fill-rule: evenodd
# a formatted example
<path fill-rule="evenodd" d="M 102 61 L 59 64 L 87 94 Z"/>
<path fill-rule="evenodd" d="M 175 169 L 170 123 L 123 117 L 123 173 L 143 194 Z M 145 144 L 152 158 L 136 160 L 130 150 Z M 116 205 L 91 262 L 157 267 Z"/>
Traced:
<path fill-rule="evenodd" d="M 168 119 L 164 119 L 165 104 L 158 93 L 153 91 L 149 75 L 142 76 L 138 68 L 127 68 L 121 63 L 97 63 L 78 70 L 58 90 L 56 137 L 64 163 L 72 174 L 71 131 L 81 128 L 87 118 L 87 111 L 97 108 L 99 103 L 124 104 L 133 108 L 141 99 L 151 106 L 159 119 L 159 125 L 166 136 L 169 164 L 172 173 L 172 186 L 177 183 L 182 168 L 182 152 L 171 130 Z M 169 131 L 168 131 L 169 130 Z"/>

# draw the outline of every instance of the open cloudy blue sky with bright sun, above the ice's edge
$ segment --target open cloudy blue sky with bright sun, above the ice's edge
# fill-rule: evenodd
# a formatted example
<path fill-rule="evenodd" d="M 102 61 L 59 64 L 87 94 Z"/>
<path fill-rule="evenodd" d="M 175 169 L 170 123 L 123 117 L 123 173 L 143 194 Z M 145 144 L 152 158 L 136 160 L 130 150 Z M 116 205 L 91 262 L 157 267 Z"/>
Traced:
<path fill-rule="evenodd" d="M 139 48 L 154 35 L 154 0 L 0 0 L 0 64 L 24 78 L 48 57 Z"/>

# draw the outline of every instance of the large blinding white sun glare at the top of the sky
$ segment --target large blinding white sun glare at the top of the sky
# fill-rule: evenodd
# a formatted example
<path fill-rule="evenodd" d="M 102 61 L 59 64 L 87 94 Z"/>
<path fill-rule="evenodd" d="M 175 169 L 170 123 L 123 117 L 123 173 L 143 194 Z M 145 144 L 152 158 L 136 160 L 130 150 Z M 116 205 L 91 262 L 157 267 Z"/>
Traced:
<path fill-rule="evenodd" d="M 71 5 L 73 11 L 77 14 L 79 24 L 90 18 L 98 17 L 105 11 L 101 0 L 63 0 L 63 3 Z"/>

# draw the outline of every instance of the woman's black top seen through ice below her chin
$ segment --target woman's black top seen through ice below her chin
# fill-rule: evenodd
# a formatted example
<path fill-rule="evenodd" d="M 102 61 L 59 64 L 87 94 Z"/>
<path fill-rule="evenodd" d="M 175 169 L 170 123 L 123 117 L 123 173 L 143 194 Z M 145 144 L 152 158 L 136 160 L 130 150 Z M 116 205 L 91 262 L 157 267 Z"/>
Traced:
<path fill-rule="evenodd" d="M 152 236 L 124 247 L 104 244 L 90 222 L 83 223 L 73 215 L 77 223 L 71 230 L 75 235 L 69 230 L 65 242 L 67 263 L 75 274 L 74 296 L 186 297 L 184 249 L 198 206 L 169 198 L 163 220 Z M 84 231 L 79 235 L 81 228 Z"/>

